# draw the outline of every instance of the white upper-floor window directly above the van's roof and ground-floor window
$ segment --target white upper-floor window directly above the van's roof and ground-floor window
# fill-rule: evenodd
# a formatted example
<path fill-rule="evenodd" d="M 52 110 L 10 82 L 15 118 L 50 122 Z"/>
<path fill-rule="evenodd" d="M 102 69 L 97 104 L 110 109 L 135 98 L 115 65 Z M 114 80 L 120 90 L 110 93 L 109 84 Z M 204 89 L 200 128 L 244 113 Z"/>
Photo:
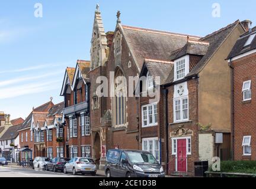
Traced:
<path fill-rule="evenodd" d="M 158 124 L 158 105 L 156 103 L 142 106 L 142 127 Z"/>

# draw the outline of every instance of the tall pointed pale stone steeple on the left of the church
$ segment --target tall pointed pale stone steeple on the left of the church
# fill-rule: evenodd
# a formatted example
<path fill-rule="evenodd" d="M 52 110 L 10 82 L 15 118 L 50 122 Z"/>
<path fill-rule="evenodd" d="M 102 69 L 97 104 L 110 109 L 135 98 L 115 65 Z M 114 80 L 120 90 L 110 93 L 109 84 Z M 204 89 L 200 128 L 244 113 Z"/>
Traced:
<path fill-rule="evenodd" d="M 100 5 L 95 10 L 94 25 L 91 40 L 91 70 L 103 66 L 106 57 L 107 37 L 104 30 L 103 19 L 101 18 Z"/>

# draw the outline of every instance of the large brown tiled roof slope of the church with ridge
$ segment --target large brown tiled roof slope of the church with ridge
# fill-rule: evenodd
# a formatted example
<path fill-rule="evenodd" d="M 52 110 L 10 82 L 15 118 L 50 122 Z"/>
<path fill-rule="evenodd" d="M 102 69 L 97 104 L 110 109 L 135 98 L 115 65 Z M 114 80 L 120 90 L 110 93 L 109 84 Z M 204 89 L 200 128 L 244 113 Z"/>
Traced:
<path fill-rule="evenodd" d="M 200 37 L 193 35 L 136 28 L 121 24 L 119 27 L 123 31 L 124 38 L 135 57 L 139 70 L 142 69 L 145 58 L 169 61 L 172 51 L 184 47 L 187 43 L 187 37 L 195 41 L 200 40 Z"/>

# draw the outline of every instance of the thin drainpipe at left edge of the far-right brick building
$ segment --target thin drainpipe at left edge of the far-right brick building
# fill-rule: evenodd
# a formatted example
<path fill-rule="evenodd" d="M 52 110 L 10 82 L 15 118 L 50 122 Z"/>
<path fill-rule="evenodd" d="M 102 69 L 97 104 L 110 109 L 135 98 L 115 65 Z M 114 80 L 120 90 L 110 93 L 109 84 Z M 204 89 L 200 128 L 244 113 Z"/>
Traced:
<path fill-rule="evenodd" d="M 234 98 L 233 98 L 233 92 L 234 92 L 234 88 L 233 88 L 233 69 L 234 67 L 232 66 L 232 58 L 229 59 L 229 67 L 231 68 L 231 129 L 232 129 L 232 133 L 231 133 L 231 145 L 232 145 L 232 160 L 234 159 L 234 149 L 235 149 L 235 126 L 234 126 L 234 108 L 233 108 L 233 103 L 234 103 Z"/>

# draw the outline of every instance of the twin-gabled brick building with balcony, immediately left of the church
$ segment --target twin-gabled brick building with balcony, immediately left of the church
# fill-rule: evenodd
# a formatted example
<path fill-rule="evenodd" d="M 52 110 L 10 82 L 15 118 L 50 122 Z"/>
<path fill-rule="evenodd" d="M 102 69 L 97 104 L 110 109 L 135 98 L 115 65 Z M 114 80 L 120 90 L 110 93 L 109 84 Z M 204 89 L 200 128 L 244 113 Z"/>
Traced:
<path fill-rule="evenodd" d="M 61 96 L 65 107 L 65 157 L 91 157 L 91 124 L 89 111 L 90 62 L 78 60 L 76 68 L 67 68 Z"/>

